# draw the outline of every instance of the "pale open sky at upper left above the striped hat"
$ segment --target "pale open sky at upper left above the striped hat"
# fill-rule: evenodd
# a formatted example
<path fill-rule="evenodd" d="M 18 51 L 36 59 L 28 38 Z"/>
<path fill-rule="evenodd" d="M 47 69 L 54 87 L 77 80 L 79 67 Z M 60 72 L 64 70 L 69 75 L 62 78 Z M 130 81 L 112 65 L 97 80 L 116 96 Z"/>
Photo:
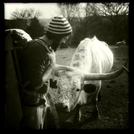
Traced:
<path fill-rule="evenodd" d="M 60 15 L 57 3 L 4 3 L 4 19 L 11 19 L 11 13 L 19 9 L 34 8 L 42 15 L 40 18 L 52 18 Z"/>

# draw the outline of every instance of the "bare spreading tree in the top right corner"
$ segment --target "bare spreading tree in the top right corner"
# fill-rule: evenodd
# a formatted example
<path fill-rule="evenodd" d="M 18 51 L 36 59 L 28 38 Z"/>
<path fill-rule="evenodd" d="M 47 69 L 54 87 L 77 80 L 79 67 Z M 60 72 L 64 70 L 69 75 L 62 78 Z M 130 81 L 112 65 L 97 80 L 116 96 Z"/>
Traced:
<path fill-rule="evenodd" d="M 129 14 L 129 3 L 99 3 L 98 13 L 109 19 L 113 26 L 113 36 L 115 42 L 118 41 L 121 26 Z M 127 25 L 124 29 L 127 29 Z"/>

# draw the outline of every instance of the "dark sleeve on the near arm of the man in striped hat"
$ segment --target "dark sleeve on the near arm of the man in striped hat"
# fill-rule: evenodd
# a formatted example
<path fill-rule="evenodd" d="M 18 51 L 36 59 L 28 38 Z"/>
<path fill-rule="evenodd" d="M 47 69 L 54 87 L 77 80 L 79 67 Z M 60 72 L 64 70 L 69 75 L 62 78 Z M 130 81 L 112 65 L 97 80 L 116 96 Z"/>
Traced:
<path fill-rule="evenodd" d="M 46 90 L 47 88 L 46 85 L 42 85 L 42 76 L 48 66 L 49 59 L 45 48 L 40 45 L 32 47 L 28 54 L 28 75 L 33 88 L 39 92 L 43 92 L 42 90 Z"/>

